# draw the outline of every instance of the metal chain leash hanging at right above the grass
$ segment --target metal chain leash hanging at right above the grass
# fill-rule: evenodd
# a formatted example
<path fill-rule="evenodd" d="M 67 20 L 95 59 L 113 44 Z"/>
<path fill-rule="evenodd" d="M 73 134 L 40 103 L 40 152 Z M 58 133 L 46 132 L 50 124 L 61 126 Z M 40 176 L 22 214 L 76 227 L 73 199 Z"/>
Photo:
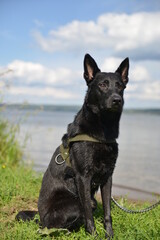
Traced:
<path fill-rule="evenodd" d="M 154 203 L 153 205 L 151 205 L 147 208 L 140 209 L 140 210 L 130 210 L 130 209 L 127 209 L 127 208 L 121 206 L 113 197 L 111 197 L 111 199 L 118 208 L 120 208 L 122 211 L 124 211 L 126 213 L 131 213 L 131 214 L 146 213 L 146 212 L 149 212 L 149 211 L 153 210 L 154 208 L 158 207 L 158 205 L 160 205 L 160 200 L 159 200 L 158 202 Z"/>

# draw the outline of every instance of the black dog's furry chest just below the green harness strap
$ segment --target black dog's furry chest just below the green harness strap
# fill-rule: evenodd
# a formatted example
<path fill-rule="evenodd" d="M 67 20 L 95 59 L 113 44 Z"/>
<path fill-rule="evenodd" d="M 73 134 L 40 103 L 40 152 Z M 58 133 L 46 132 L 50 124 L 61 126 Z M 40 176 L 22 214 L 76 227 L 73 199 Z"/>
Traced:
<path fill-rule="evenodd" d="M 96 185 L 100 185 L 113 173 L 118 156 L 118 144 L 74 143 L 70 156 L 75 174 L 79 172 Z"/>

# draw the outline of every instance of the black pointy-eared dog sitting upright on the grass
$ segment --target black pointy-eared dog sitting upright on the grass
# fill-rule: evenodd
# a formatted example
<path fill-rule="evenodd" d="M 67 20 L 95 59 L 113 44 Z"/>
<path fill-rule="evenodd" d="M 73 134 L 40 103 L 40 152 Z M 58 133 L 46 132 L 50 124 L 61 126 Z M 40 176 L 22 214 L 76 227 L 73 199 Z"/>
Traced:
<path fill-rule="evenodd" d="M 100 186 L 106 238 L 113 236 L 111 187 L 118 156 L 115 139 L 119 134 L 128 69 L 129 59 L 126 58 L 115 73 L 101 72 L 94 59 L 86 54 L 84 78 L 88 85 L 87 94 L 62 142 L 65 147 L 69 139 L 82 134 L 97 142 L 85 139 L 70 142 L 70 165 L 61 158 L 60 147 L 56 149 L 44 174 L 39 195 L 38 212 L 42 227 L 75 229 L 84 223 L 86 231 L 93 234 L 94 194 Z M 57 159 L 62 164 L 58 164 Z"/>

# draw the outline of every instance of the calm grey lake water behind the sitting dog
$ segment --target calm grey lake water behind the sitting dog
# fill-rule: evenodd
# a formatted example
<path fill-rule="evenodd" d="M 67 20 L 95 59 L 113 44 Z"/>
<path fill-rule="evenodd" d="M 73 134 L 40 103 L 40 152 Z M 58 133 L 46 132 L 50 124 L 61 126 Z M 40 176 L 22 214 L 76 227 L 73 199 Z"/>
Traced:
<path fill-rule="evenodd" d="M 22 119 L 19 139 L 23 142 L 25 136 L 29 136 L 25 161 L 33 161 L 34 169 L 44 172 L 76 112 L 13 108 L 6 109 L 3 115 L 13 122 Z M 118 143 L 119 157 L 113 182 L 160 193 L 160 114 L 124 112 Z M 115 194 L 120 191 L 116 189 Z"/>

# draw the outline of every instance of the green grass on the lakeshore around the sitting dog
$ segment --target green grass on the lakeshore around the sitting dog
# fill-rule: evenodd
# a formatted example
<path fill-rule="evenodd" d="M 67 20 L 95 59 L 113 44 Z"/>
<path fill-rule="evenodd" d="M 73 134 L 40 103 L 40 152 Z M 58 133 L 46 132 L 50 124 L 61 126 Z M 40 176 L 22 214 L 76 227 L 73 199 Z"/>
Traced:
<path fill-rule="evenodd" d="M 19 210 L 36 210 L 42 176 L 22 164 L 22 151 L 16 140 L 17 127 L 0 121 L 0 239 L 104 239 L 103 210 L 98 204 L 94 214 L 98 237 L 85 233 L 82 226 L 78 232 L 53 230 L 45 235 L 34 222 L 17 222 Z M 141 205 L 141 206 L 140 206 Z M 144 204 L 134 204 L 125 200 L 127 208 L 144 208 Z M 160 206 L 145 214 L 127 214 L 112 205 L 115 240 L 160 240 Z"/>

